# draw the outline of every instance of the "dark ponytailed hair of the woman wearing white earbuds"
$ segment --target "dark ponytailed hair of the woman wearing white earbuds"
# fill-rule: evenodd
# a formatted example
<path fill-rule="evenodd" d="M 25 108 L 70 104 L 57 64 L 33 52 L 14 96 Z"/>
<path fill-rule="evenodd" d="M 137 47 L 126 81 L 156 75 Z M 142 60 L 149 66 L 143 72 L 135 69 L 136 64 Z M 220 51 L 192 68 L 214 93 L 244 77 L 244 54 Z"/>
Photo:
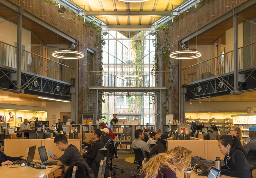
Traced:
<path fill-rule="evenodd" d="M 236 150 L 240 150 L 244 153 L 246 157 L 246 152 L 241 144 L 241 141 L 234 135 L 222 135 L 219 140 L 221 144 L 225 147 L 231 145 L 230 154 L 232 155 Z"/>

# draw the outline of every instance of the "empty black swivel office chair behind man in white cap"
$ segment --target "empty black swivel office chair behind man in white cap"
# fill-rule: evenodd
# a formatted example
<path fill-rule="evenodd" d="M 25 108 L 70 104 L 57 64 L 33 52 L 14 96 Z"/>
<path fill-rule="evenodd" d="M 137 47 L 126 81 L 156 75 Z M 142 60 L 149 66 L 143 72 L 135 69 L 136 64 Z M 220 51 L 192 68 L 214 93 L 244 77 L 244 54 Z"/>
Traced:
<path fill-rule="evenodd" d="M 114 177 L 116 177 L 116 169 L 122 170 L 121 173 L 124 173 L 124 170 L 122 168 L 118 168 L 117 165 L 112 164 L 112 160 L 115 158 L 118 158 L 118 153 L 117 153 L 117 147 L 118 147 L 119 142 L 116 142 L 116 144 L 114 144 L 114 141 L 110 141 L 107 145 L 107 150 L 108 150 L 108 157 L 110 160 L 110 165 L 109 165 L 109 170 L 113 170 L 113 175 Z M 115 166 L 115 167 L 114 167 Z"/>

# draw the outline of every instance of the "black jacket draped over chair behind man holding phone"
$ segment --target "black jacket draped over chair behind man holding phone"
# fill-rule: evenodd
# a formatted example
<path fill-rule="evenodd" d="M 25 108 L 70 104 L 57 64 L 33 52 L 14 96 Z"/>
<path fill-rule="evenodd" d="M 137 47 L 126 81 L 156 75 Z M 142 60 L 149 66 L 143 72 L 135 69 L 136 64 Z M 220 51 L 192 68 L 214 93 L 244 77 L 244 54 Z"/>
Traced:
<path fill-rule="evenodd" d="M 56 178 L 71 178 L 74 166 L 78 167 L 75 178 L 94 178 L 93 174 L 90 176 L 85 163 L 79 161 L 70 164 L 64 175 L 57 176 Z"/>

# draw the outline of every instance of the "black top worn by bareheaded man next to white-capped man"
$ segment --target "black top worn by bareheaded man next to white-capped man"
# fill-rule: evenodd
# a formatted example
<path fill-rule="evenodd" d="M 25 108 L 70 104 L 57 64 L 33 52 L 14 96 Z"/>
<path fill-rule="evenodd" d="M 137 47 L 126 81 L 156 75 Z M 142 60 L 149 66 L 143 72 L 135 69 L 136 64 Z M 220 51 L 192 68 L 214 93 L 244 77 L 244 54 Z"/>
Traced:
<path fill-rule="evenodd" d="M 86 158 L 86 163 L 91 167 L 93 160 L 95 159 L 98 150 L 104 148 L 103 142 L 99 139 L 93 142 L 92 145 L 88 145 L 87 147 L 87 154 L 83 154 L 83 157 Z"/>

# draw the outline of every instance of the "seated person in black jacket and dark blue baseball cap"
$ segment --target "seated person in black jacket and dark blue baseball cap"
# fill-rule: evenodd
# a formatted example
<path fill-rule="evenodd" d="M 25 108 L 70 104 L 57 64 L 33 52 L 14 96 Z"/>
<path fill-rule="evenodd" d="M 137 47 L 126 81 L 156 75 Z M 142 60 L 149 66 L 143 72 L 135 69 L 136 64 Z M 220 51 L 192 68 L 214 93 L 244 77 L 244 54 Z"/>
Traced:
<path fill-rule="evenodd" d="M 161 137 L 157 139 L 156 145 L 151 149 L 149 153 L 150 157 L 159 153 L 166 152 L 166 139 L 169 137 L 169 134 L 162 134 Z"/>

